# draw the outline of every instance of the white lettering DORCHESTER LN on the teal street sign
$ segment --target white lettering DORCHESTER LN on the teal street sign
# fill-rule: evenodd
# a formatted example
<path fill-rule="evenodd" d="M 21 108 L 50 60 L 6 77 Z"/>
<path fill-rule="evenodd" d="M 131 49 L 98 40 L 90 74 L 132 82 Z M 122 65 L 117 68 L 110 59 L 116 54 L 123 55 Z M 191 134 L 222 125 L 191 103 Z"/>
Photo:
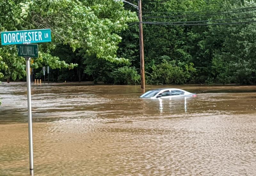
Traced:
<path fill-rule="evenodd" d="M 48 38 L 48 34 L 44 35 Z M 43 41 L 41 31 L 33 32 L 17 32 L 4 34 L 4 43 L 16 43 L 16 42 L 31 42 L 31 41 Z"/>

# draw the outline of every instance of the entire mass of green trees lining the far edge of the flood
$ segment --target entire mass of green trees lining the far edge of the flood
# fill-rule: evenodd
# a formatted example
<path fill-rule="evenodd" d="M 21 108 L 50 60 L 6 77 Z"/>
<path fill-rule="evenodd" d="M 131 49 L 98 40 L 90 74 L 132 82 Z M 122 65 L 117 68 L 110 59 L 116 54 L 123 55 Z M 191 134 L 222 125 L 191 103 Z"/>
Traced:
<path fill-rule="evenodd" d="M 37 77 L 49 65 L 52 81 L 140 84 L 130 4 L 6 0 L 0 9 L 1 31 L 51 28 L 52 43 L 39 45 L 32 64 Z M 256 83 L 254 0 L 142 0 L 142 14 L 147 84 Z M 0 47 L 0 76 L 21 78 L 24 64 L 14 45 Z"/>

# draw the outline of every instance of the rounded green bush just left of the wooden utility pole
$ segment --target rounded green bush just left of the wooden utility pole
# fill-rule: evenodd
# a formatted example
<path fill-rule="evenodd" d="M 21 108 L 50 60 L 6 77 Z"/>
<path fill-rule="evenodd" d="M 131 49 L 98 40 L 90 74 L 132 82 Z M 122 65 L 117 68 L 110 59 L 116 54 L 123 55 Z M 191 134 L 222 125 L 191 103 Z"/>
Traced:
<path fill-rule="evenodd" d="M 110 77 L 113 79 L 114 84 L 140 84 L 140 75 L 135 67 L 124 66 L 117 68 L 110 73 Z"/>

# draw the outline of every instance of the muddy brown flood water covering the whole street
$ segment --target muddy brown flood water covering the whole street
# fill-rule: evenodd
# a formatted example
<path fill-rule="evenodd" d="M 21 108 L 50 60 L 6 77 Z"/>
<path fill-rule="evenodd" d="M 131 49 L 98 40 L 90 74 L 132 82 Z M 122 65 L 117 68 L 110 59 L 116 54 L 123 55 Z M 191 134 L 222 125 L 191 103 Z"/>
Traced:
<path fill-rule="evenodd" d="M 35 175 L 256 175 L 256 86 L 32 85 Z M 28 175 L 26 83 L 0 84 L 0 175 Z M 146 90 L 147 91 L 147 90 Z"/>

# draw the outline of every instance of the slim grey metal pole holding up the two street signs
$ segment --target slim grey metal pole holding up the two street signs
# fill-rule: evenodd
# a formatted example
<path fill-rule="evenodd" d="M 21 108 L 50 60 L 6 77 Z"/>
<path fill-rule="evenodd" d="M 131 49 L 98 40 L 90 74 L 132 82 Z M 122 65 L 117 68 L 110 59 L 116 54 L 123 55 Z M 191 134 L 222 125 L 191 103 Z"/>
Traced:
<path fill-rule="evenodd" d="M 34 166 L 33 166 L 33 137 L 32 137 L 31 89 L 30 89 L 30 57 L 26 58 L 26 66 L 27 66 L 27 96 L 28 96 L 29 174 L 33 176 Z"/>

